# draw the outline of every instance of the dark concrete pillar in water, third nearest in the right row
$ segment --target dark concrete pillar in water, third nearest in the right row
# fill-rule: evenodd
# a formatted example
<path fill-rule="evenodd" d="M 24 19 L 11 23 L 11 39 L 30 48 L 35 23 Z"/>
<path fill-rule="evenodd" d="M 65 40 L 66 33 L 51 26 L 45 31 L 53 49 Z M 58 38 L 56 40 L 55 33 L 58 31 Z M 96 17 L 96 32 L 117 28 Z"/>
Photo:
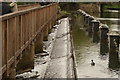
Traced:
<path fill-rule="evenodd" d="M 93 43 L 99 42 L 99 23 L 97 20 L 92 20 Z"/>

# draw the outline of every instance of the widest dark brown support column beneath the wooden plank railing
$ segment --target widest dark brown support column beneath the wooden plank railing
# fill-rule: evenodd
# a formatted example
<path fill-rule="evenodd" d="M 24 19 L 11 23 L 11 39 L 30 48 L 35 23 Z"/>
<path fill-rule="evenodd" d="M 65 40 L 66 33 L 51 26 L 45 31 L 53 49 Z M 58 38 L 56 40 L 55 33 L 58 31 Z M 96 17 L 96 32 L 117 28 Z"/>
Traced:
<path fill-rule="evenodd" d="M 17 73 L 23 73 L 25 71 L 30 71 L 31 69 L 34 68 L 34 54 L 35 54 L 35 45 L 33 41 L 22 52 L 22 59 L 17 64 Z"/>

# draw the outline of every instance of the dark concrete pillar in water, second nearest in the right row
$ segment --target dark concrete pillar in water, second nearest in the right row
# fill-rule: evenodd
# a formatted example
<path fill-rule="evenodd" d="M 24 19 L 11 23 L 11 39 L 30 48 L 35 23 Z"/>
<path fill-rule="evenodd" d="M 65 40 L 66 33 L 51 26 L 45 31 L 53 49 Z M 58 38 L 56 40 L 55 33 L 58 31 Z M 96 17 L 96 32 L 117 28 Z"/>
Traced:
<path fill-rule="evenodd" d="M 105 55 L 106 53 L 109 52 L 107 33 L 108 33 L 108 26 L 102 25 L 100 27 L 100 54 L 101 55 Z"/>

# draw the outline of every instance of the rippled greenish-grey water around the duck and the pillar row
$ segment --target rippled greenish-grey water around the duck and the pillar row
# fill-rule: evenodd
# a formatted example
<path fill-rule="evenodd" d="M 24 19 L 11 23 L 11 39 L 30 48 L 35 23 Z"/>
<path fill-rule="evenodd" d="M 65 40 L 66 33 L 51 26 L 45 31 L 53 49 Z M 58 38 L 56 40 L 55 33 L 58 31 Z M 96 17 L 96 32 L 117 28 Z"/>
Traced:
<path fill-rule="evenodd" d="M 99 13 L 91 13 L 91 15 L 96 19 L 99 18 L 102 23 L 107 24 L 111 29 L 119 29 L 117 11 L 105 12 L 102 17 L 99 16 Z M 70 21 L 78 78 L 118 78 L 119 71 L 109 69 L 109 55 L 100 55 L 100 43 L 92 43 L 92 39 L 88 37 L 83 28 L 82 19 L 82 15 L 72 14 Z M 95 62 L 95 66 L 91 66 L 91 60 Z"/>

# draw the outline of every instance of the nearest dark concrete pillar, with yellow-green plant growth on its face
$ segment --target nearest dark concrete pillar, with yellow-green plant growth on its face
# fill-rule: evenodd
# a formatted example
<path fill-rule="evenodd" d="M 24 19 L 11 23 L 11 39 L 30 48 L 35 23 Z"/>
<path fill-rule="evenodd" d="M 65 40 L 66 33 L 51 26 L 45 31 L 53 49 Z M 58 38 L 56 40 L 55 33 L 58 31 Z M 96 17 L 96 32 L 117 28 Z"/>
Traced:
<path fill-rule="evenodd" d="M 117 69 L 119 67 L 119 34 L 111 32 L 110 39 L 110 52 L 109 52 L 109 68 Z"/>

